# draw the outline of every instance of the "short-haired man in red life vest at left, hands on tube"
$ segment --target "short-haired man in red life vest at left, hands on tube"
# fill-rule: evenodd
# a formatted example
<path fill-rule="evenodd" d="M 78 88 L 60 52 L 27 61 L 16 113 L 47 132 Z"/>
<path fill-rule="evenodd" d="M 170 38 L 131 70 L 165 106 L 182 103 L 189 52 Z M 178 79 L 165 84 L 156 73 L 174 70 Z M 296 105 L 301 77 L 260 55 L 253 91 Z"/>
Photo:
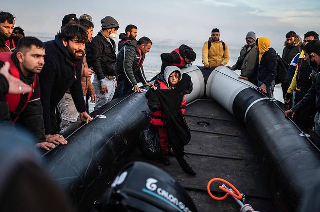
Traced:
<path fill-rule="evenodd" d="M 66 141 L 61 135 L 45 137 L 44 134 L 40 85 L 37 76 L 44 65 L 44 55 L 44 44 L 35 37 L 21 38 L 14 53 L 0 53 L 1 66 L 4 62 L 9 62 L 10 74 L 32 88 L 30 92 L 24 94 L 7 94 L 1 102 L 7 103 L 10 112 L 2 116 L 2 119 L 22 125 L 40 142 L 36 144 L 37 147 L 49 150 L 55 147 L 52 143 L 66 144 Z M 44 142 L 46 140 L 49 142 Z"/>

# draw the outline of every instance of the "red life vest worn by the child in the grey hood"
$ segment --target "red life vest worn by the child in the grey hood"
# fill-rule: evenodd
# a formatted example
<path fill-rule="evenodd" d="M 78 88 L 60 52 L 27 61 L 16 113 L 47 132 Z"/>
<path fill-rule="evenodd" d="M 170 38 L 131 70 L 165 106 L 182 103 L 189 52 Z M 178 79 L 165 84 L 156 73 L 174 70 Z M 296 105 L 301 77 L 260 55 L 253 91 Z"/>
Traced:
<path fill-rule="evenodd" d="M 160 89 L 167 89 L 167 85 L 163 82 L 158 80 L 159 84 L 160 84 Z M 184 96 L 182 98 L 182 106 L 181 106 L 181 112 L 182 114 L 184 114 L 185 110 L 186 110 L 186 100 L 184 99 Z M 166 126 L 167 123 L 165 121 L 165 114 L 162 112 L 161 110 L 161 105 L 159 105 L 159 110 L 156 112 L 150 112 L 151 114 L 151 118 L 150 118 L 150 124 L 151 125 L 156 125 L 156 126 Z"/>

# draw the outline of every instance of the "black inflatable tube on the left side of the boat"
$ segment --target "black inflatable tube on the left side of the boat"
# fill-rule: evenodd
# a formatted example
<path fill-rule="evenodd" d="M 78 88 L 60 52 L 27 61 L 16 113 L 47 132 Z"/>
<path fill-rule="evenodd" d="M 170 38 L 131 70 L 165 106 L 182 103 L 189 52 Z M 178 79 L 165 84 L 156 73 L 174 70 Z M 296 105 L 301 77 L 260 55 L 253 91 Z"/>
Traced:
<path fill-rule="evenodd" d="M 71 126 L 64 133 L 68 145 L 59 145 L 42 156 L 51 177 L 69 194 L 76 211 L 92 208 L 121 169 L 140 131 L 147 127 L 142 111 L 149 109 L 142 91 L 114 99 L 91 114 L 106 118 L 95 118 L 80 128 Z"/>

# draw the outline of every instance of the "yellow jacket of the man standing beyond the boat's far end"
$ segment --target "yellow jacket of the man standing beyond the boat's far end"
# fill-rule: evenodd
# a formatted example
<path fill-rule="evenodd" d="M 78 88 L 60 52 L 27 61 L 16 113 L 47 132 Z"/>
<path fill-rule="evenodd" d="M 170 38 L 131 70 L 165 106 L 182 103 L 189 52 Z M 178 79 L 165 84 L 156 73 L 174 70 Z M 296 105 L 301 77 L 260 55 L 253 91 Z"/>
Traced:
<path fill-rule="evenodd" d="M 223 51 L 221 41 L 211 42 L 210 51 L 208 50 L 208 41 L 204 42 L 202 47 L 202 63 L 215 68 L 221 65 L 227 65 L 230 60 L 229 48 L 225 43 L 226 49 Z"/>

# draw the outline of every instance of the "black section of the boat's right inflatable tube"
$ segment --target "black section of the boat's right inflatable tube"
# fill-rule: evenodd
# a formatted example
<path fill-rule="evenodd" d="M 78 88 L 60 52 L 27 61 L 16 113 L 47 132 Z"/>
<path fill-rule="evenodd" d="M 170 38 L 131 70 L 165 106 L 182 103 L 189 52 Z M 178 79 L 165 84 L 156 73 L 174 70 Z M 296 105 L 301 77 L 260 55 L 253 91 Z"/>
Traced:
<path fill-rule="evenodd" d="M 283 107 L 281 102 L 265 98 L 255 89 L 246 88 L 234 98 L 233 113 L 245 121 L 265 166 L 274 203 L 281 212 L 294 212 L 303 192 L 312 189 L 314 176 L 320 175 L 320 152 L 299 136 L 301 131 L 278 108 Z"/>

